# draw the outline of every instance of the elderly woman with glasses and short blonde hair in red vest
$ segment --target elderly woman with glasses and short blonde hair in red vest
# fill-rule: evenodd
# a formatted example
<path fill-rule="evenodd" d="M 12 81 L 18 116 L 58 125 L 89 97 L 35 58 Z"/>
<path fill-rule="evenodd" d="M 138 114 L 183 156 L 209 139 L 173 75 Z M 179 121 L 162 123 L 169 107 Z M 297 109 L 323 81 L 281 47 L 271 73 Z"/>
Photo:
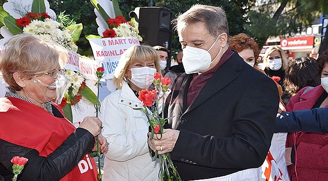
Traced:
<path fill-rule="evenodd" d="M 56 102 L 61 102 L 67 79 L 68 54 L 55 43 L 18 34 L 5 44 L 0 71 L 8 83 L 0 98 L 0 175 L 13 178 L 11 159 L 28 159 L 18 180 L 97 180 L 88 152 L 102 128 L 86 117 L 76 129 Z M 53 102 L 54 100 L 54 102 Z M 99 135 L 101 151 L 108 149 Z"/>

